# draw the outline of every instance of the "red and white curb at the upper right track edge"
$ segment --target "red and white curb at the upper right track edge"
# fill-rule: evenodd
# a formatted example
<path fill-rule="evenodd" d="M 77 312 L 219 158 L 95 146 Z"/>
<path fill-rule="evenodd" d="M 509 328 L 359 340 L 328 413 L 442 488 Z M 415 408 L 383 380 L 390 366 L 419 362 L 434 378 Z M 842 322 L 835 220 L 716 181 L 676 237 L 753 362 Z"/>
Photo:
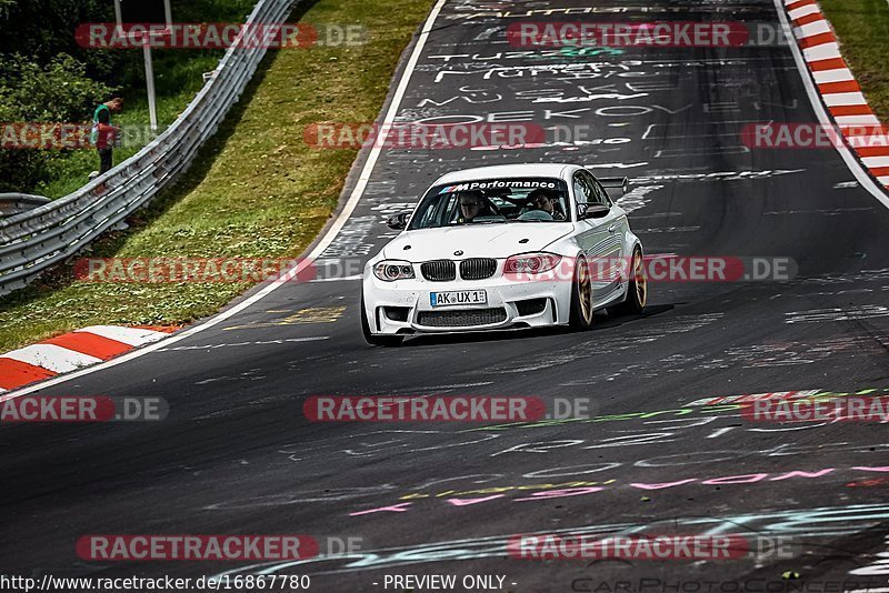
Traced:
<path fill-rule="evenodd" d="M 865 168 L 883 188 L 889 188 L 889 135 L 882 132 L 880 120 L 842 59 L 830 22 L 816 0 L 783 2 L 825 107 Z"/>

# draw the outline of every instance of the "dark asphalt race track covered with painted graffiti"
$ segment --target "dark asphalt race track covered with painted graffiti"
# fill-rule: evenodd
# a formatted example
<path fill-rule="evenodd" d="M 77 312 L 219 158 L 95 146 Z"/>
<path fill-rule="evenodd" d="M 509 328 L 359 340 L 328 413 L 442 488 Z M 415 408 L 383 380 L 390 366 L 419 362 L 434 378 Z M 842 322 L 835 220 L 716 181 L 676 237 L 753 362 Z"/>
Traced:
<path fill-rule="evenodd" d="M 559 13 L 588 6 L 587 14 Z M 605 12 L 611 7 L 626 11 Z M 588 142 L 383 150 L 316 262 L 317 281 L 284 284 L 206 331 L 40 391 L 161 396 L 170 414 L 3 426 L 2 572 L 262 570 L 309 574 L 314 591 L 382 591 L 387 574 L 503 575 L 515 592 L 887 586 L 889 571 L 877 564 L 889 550 L 885 425 L 761 423 L 737 406 L 689 404 L 889 389 L 889 210 L 832 149 L 741 142 L 750 122 L 817 121 L 788 47 L 518 52 L 505 28 L 542 8 L 553 13 L 533 20 L 779 22 L 772 0 L 448 0 L 398 119 L 587 123 Z M 330 270 L 376 253 L 394 235 L 382 222 L 439 174 L 516 162 L 628 175 L 621 203 L 648 253 L 792 258 L 798 275 L 655 283 L 642 316 L 600 313 L 583 333 L 366 345 L 356 272 Z M 302 414 L 314 394 L 588 396 L 596 415 L 512 426 L 321 424 Z M 552 493 L 568 488 L 587 490 Z M 783 539 L 792 554 L 541 562 L 506 553 L 513 534 L 616 530 Z M 78 559 L 77 539 L 102 533 L 306 533 L 360 537 L 361 550 L 252 567 Z"/>

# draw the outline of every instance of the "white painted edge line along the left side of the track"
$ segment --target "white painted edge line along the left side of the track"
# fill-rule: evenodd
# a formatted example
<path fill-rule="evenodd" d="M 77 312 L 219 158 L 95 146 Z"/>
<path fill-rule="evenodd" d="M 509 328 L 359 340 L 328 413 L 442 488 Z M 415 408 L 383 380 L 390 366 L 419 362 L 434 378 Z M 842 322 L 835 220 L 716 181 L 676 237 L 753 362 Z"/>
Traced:
<path fill-rule="evenodd" d="M 420 32 L 419 38 L 417 39 L 417 44 L 413 48 L 413 52 L 408 60 L 407 66 L 404 67 L 404 71 L 401 73 L 401 79 L 398 82 L 398 88 L 396 89 L 396 93 L 392 96 L 392 102 L 389 105 L 389 110 L 386 112 L 386 117 L 383 118 L 382 124 L 391 124 L 394 122 L 396 115 L 398 114 L 398 110 L 401 107 L 401 100 L 404 98 L 404 93 L 408 90 L 408 83 L 410 82 L 411 74 L 413 74 L 413 70 L 417 67 L 417 62 L 420 59 L 420 54 L 423 51 L 423 47 L 426 46 L 426 41 L 429 38 L 429 33 L 432 30 L 432 26 L 438 19 L 439 12 L 441 12 L 441 8 L 444 6 L 446 0 L 438 0 L 436 6 L 432 8 L 432 11 L 429 13 L 426 22 L 423 23 L 422 31 Z M 14 398 L 20 398 L 22 395 L 27 395 L 28 393 L 32 393 L 34 391 L 44 390 L 47 388 L 51 388 L 53 385 L 58 385 L 59 383 L 64 383 L 66 381 L 71 381 L 72 379 L 78 379 L 83 375 L 88 375 L 90 373 L 94 373 L 98 371 L 103 371 L 106 369 L 110 369 L 111 366 L 116 366 L 118 364 L 123 364 L 124 362 L 129 362 L 133 359 L 138 359 L 139 356 L 143 356 L 149 352 L 154 352 L 160 349 L 168 349 L 171 344 L 184 340 L 186 338 L 191 338 L 192 335 L 200 333 L 204 330 L 208 330 L 219 323 L 222 323 L 227 319 L 237 315 L 248 306 L 256 304 L 257 302 L 261 301 L 272 292 L 274 292 L 279 287 L 284 284 L 288 280 L 294 278 L 297 274 L 302 272 L 306 268 L 311 265 L 314 260 L 333 242 L 339 234 L 342 227 L 346 224 L 346 221 L 349 220 L 352 212 L 354 211 L 356 207 L 358 205 L 361 195 L 364 193 L 364 189 L 367 188 L 368 181 L 370 180 L 370 174 L 373 172 L 373 167 L 377 164 L 377 160 L 380 157 L 380 152 L 382 151 L 382 145 L 373 145 L 370 150 L 370 154 L 368 154 L 368 160 L 364 163 L 364 167 L 361 169 L 361 174 L 358 178 L 358 182 L 352 189 L 352 193 L 349 195 L 349 200 L 346 202 L 342 211 L 340 212 L 337 220 L 328 229 L 324 237 L 319 241 L 319 243 L 314 247 L 314 249 L 309 253 L 303 260 L 301 260 L 296 267 L 288 270 L 279 280 L 271 282 L 262 290 L 246 299 L 244 301 L 238 303 L 237 305 L 232 306 L 231 309 L 219 313 L 218 315 L 207 320 L 204 323 L 200 325 L 196 325 L 188 330 L 184 330 L 180 333 L 171 335 L 166 340 L 161 340 L 160 342 L 156 342 L 149 346 L 133 350 L 128 354 L 123 354 L 117 359 L 111 359 L 107 362 L 101 364 L 97 364 L 94 366 L 89 366 L 87 369 L 82 369 L 80 371 L 60 375 L 53 379 L 48 379 L 40 383 L 36 383 L 33 385 L 22 388 L 19 390 L 10 391 L 4 393 L 0 396 L 0 402 L 4 402 L 7 400 L 12 400 Z"/>

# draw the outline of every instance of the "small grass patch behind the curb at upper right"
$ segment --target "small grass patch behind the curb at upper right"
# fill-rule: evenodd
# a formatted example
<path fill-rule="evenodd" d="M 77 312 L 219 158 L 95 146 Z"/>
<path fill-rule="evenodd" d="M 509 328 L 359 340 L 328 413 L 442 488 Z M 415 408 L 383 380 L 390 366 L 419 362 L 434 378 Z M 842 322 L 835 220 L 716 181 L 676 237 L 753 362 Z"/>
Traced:
<path fill-rule="evenodd" d="M 883 124 L 889 123 L 889 3 L 821 0 L 820 4 L 870 108 Z"/>

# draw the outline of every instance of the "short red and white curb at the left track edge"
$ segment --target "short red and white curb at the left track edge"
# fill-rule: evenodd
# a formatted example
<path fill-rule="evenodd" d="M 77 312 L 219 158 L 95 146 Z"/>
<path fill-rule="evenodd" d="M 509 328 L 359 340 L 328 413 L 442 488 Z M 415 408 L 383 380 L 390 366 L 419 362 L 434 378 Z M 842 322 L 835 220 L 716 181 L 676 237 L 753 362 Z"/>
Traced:
<path fill-rule="evenodd" d="M 0 354 L 0 393 L 107 361 L 177 329 L 90 325 Z"/>

